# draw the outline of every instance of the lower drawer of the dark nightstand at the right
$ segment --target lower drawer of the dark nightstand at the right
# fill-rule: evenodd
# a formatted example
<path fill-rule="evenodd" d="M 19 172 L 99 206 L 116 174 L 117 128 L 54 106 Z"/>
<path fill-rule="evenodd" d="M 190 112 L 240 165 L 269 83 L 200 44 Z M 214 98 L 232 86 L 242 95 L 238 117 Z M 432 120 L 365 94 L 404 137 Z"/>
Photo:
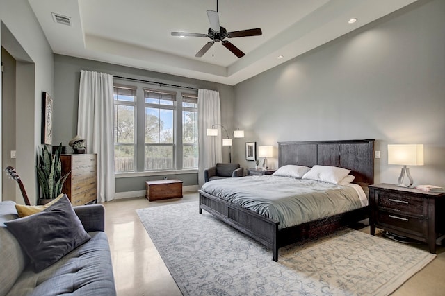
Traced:
<path fill-rule="evenodd" d="M 378 212 L 378 224 L 385 226 L 391 225 L 392 228 L 399 228 L 400 230 L 410 230 L 412 232 L 417 232 L 418 234 L 423 233 L 425 227 L 424 223 L 427 220 L 421 218 L 413 218 L 403 214 L 394 214 L 387 211 Z"/>

